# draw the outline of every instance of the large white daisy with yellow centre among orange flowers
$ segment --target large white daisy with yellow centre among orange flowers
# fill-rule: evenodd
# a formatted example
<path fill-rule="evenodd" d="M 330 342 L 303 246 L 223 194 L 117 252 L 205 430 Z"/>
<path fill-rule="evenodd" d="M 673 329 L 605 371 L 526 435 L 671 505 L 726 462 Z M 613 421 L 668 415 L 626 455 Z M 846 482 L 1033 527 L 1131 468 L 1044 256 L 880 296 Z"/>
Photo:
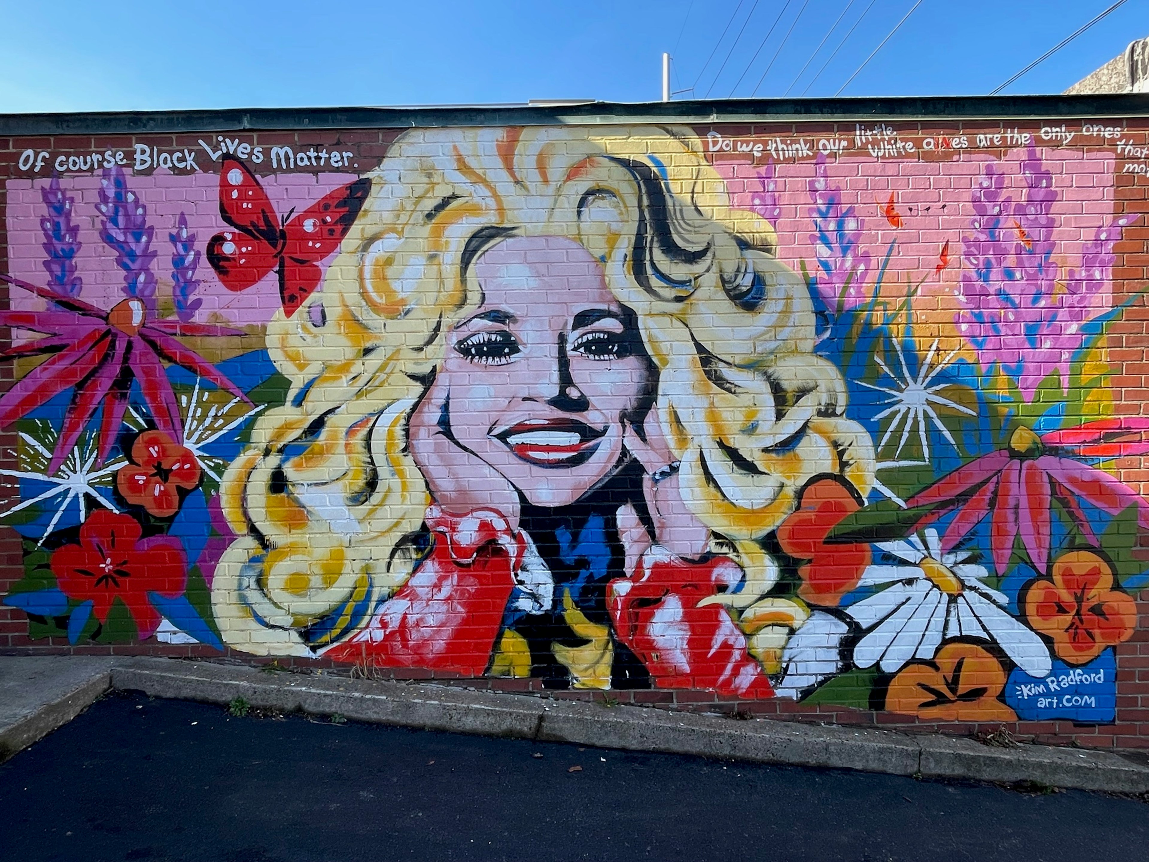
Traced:
<path fill-rule="evenodd" d="M 1030 676 L 1046 676 L 1049 649 L 1000 607 L 1009 599 L 981 583 L 985 568 L 966 563 L 967 551 L 943 554 L 936 530 L 924 537 L 878 542 L 908 564 L 870 565 L 858 586 L 890 586 L 842 608 L 869 630 L 854 647 L 854 663 L 893 674 L 912 659 L 933 659 L 947 638 L 973 637 L 996 641 Z"/>

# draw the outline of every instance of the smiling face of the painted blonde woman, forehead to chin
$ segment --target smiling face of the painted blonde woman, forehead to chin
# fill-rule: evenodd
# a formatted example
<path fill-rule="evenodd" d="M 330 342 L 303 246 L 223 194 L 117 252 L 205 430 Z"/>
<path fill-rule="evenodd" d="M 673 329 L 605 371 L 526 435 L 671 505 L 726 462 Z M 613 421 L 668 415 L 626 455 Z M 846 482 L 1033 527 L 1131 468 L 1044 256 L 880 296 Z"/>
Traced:
<path fill-rule="evenodd" d="M 483 305 L 448 334 L 440 370 L 450 431 L 529 502 L 574 502 L 618 465 L 623 418 L 651 384 L 633 315 L 564 238 L 504 240 L 473 278 Z"/>

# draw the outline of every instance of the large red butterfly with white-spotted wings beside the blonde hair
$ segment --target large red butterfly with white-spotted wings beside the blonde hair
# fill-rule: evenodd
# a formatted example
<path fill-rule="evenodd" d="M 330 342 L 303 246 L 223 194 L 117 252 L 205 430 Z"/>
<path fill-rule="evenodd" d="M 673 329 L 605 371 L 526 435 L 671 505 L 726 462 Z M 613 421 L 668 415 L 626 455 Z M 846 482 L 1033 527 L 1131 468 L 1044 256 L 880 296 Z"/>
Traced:
<path fill-rule="evenodd" d="M 259 178 L 238 159 L 224 156 L 219 215 L 238 233 L 211 237 L 208 262 L 229 291 L 246 291 L 275 271 L 284 313 L 291 317 L 319 286 L 323 272 L 316 264 L 339 247 L 370 191 L 369 177 L 356 179 L 280 221 Z"/>

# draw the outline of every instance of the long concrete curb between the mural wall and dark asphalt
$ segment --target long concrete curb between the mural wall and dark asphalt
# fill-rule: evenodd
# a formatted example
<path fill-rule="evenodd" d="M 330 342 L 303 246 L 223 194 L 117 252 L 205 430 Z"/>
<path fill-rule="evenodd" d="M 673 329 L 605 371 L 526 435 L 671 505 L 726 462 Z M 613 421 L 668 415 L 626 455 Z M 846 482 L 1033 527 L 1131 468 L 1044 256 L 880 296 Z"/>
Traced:
<path fill-rule="evenodd" d="M 0 659 L 0 668 L 11 661 L 28 660 Z M 0 715 L 0 745 L 9 751 L 30 745 L 74 717 L 110 686 L 154 698 L 219 705 L 244 698 L 253 707 L 285 713 L 339 714 L 360 722 L 601 748 L 931 778 L 1032 782 L 1075 790 L 1149 791 L 1149 768 L 1106 752 L 1033 745 L 994 748 L 954 737 L 762 718 L 732 721 L 643 707 L 606 707 L 448 685 L 268 672 L 208 662 L 107 661 L 110 663 L 103 667 L 87 665 L 84 683 L 71 685 L 65 696 L 51 699 L 40 710 L 43 717 L 39 713 L 34 719 L 25 717 L 23 730 L 5 728 Z"/>

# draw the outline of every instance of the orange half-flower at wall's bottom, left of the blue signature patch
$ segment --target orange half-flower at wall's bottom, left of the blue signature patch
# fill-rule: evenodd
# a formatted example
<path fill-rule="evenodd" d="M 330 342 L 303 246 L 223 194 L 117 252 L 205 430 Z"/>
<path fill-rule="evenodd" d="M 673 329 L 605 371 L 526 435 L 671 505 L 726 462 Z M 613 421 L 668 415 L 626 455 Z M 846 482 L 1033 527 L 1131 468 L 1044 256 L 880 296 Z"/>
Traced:
<path fill-rule="evenodd" d="M 886 692 L 886 709 L 931 722 L 1015 722 L 997 698 L 1005 669 L 977 644 L 953 640 L 931 662 L 911 662 Z"/>

